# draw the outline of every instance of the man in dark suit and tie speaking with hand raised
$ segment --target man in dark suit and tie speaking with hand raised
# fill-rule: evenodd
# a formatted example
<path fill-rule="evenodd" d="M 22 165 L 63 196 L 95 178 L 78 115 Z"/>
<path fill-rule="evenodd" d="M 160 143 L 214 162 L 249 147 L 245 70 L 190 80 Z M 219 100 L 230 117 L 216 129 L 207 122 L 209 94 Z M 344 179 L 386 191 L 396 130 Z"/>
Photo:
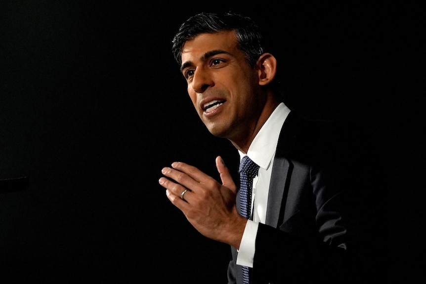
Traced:
<path fill-rule="evenodd" d="M 195 15 L 174 37 L 173 54 L 207 129 L 258 165 L 247 212 L 221 157 L 221 183 L 184 162 L 163 168 L 159 180 L 201 234 L 231 245 L 228 283 L 246 283 L 246 268 L 251 284 L 377 281 L 378 183 L 365 137 L 282 102 L 277 60 L 250 18 Z"/>

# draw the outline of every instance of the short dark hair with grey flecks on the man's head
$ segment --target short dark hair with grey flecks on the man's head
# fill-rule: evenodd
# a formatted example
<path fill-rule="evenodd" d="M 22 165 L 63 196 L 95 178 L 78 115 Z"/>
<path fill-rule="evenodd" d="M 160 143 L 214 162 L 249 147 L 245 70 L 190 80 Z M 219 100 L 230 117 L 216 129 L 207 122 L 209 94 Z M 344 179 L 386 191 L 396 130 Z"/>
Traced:
<path fill-rule="evenodd" d="M 171 41 L 176 62 L 182 64 L 182 47 L 186 41 L 199 34 L 232 30 L 238 39 L 237 47 L 246 54 L 247 62 L 254 68 L 257 59 L 263 54 L 259 28 L 251 18 L 233 13 L 200 13 L 183 22 Z"/>

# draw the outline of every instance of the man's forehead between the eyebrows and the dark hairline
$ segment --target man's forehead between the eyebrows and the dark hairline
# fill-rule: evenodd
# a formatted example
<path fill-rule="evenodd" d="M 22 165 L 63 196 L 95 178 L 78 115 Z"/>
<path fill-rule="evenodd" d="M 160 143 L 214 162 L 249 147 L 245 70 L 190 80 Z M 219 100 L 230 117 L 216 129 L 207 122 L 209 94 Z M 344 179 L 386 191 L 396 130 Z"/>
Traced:
<path fill-rule="evenodd" d="M 237 43 L 234 31 L 200 34 L 183 45 L 182 62 L 200 58 L 211 50 L 223 50 L 234 54 L 239 51 Z"/>

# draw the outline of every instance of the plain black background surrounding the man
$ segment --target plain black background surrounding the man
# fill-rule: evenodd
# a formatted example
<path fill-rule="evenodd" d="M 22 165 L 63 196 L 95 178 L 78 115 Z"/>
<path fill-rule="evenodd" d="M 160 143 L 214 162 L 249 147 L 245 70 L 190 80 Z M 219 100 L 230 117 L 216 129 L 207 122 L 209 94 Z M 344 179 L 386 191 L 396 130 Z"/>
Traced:
<path fill-rule="evenodd" d="M 295 1 L 296 2 L 296 1 Z M 170 52 L 198 12 L 252 16 L 276 45 L 292 108 L 356 121 L 389 168 L 389 281 L 409 260 L 424 156 L 424 5 L 2 1 L 2 283 L 226 283 L 228 245 L 199 234 L 158 185 L 161 168 L 238 154 L 199 120 Z M 398 267 L 398 269 L 393 269 Z"/>

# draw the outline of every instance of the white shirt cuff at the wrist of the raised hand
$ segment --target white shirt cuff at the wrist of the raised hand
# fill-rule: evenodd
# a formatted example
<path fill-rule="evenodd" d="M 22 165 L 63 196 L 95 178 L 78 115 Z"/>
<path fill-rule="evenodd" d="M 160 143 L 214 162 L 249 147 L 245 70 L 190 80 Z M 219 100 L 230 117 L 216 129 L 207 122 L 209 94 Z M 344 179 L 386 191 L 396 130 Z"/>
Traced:
<path fill-rule="evenodd" d="M 259 224 L 247 220 L 244 229 L 243 238 L 241 239 L 240 248 L 238 249 L 237 264 L 247 267 L 253 267 L 253 259 L 255 258 L 256 235 Z"/>

